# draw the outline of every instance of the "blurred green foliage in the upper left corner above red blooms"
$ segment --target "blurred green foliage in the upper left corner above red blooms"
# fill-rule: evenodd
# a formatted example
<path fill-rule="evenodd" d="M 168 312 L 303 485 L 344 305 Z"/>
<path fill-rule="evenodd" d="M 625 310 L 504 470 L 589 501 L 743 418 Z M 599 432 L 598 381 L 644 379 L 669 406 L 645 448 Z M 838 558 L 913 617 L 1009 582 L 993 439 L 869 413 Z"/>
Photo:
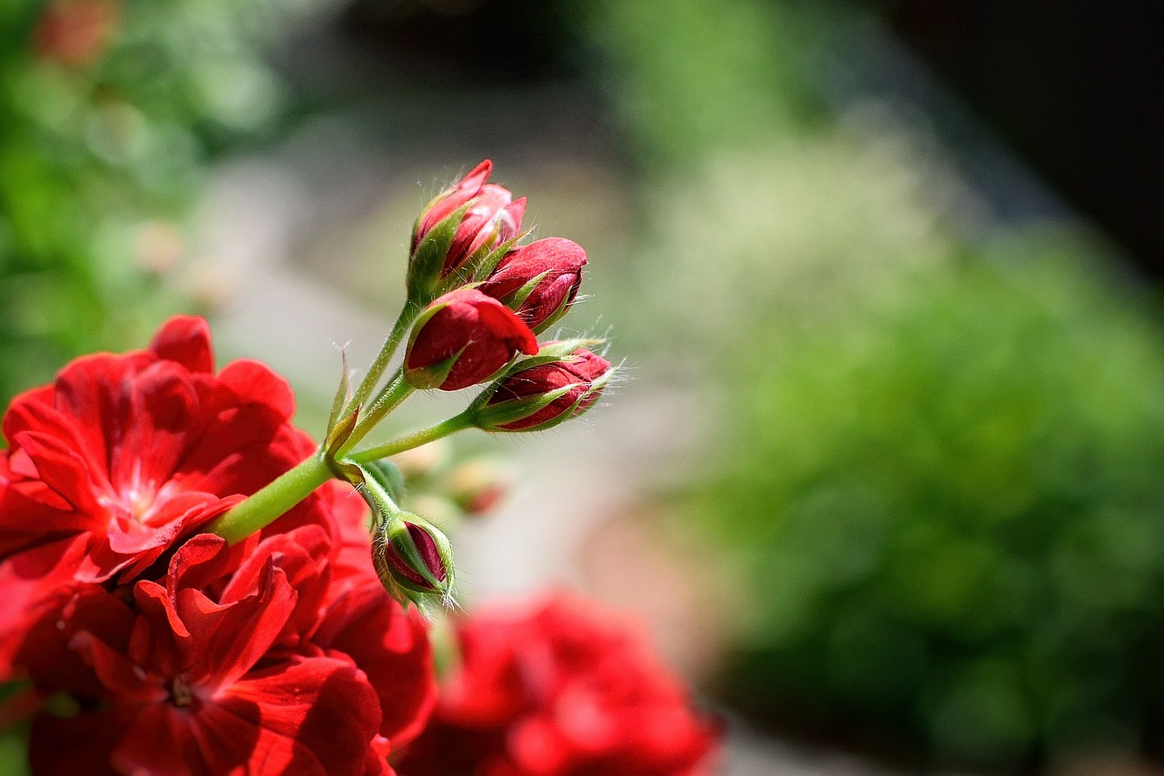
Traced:
<path fill-rule="evenodd" d="M 177 305 L 205 165 L 279 114 L 282 5 L 0 3 L 0 398 Z"/>

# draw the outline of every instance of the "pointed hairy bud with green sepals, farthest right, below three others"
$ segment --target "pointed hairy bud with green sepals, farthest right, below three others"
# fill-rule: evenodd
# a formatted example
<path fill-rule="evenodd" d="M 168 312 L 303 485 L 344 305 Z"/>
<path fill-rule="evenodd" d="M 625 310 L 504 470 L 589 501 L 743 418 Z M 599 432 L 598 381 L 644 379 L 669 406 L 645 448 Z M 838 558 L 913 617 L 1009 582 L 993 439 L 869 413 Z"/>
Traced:
<path fill-rule="evenodd" d="M 540 431 L 588 410 L 610 381 L 610 361 L 580 348 L 505 375 L 477 412 L 485 431 Z"/>

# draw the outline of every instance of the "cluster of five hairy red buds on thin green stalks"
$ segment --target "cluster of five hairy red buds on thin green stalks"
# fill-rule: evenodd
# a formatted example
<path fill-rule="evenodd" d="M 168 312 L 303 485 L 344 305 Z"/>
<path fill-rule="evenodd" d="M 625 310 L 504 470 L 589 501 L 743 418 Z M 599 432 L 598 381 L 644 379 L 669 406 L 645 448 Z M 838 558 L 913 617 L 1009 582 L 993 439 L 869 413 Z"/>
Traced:
<path fill-rule="evenodd" d="M 556 237 L 523 244 L 526 200 L 489 183 L 491 171 L 491 163 L 482 162 L 421 211 L 411 239 L 407 302 L 354 391 L 345 367 L 322 449 L 331 472 L 356 485 L 372 507 L 374 560 L 385 587 L 418 604 L 450 600 L 448 539 L 398 506 L 407 499 L 406 478 L 384 459 L 462 429 L 549 429 L 587 411 L 615 373 L 596 352 L 602 340 L 538 341 L 577 299 L 585 251 Z M 399 368 L 382 385 L 402 344 Z M 410 393 L 471 386 L 484 388 L 460 415 L 354 450 Z M 470 493 L 474 487 L 448 499 L 462 514 L 489 500 Z"/>

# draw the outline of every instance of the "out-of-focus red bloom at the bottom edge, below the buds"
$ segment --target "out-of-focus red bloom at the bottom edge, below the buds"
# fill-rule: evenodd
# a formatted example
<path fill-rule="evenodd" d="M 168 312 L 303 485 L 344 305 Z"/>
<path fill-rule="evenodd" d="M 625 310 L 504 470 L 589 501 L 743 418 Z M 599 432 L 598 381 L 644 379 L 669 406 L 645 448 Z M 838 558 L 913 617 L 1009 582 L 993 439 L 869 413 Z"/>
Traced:
<path fill-rule="evenodd" d="M 717 726 L 626 621 L 558 597 L 461 623 L 462 665 L 403 776 L 694 776 Z"/>

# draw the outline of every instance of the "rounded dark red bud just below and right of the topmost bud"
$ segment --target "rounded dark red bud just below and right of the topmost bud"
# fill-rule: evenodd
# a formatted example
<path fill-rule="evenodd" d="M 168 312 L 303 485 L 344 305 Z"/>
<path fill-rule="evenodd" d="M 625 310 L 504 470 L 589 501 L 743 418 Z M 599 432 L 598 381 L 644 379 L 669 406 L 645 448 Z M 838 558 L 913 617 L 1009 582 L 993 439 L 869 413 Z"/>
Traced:
<path fill-rule="evenodd" d="M 505 256 L 478 288 L 514 310 L 535 332 L 566 315 L 582 285 L 585 251 L 563 238 L 546 238 Z"/>

